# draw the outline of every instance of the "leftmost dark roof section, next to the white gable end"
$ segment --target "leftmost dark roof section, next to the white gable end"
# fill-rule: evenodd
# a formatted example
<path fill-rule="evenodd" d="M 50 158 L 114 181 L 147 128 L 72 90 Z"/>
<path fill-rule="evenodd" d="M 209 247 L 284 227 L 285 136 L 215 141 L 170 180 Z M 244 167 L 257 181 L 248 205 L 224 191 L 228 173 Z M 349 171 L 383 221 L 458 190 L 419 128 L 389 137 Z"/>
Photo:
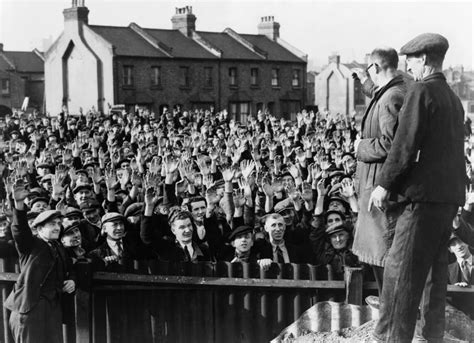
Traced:
<path fill-rule="evenodd" d="M 119 56 L 166 57 L 130 27 L 89 25 L 98 35 L 115 47 Z"/>

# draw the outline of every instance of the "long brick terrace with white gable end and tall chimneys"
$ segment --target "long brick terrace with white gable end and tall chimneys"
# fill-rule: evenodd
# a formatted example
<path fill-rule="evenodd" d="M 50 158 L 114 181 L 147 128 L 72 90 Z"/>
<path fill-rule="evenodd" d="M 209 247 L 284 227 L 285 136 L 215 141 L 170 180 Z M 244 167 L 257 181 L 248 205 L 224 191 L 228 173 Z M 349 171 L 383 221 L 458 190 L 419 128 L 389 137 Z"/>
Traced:
<path fill-rule="evenodd" d="M 196 31 L 189 6 L 176 9 L 171 30 L 90 25 L 88 13 L 74 0 L 46 53 L 52 114 L 63 104 L 71 113 L 124 104 L 155 113 L 214 107 L 245 120 L 260 109 L 289 116 L 306 105 L 307 56 L 280 38 L 273 17 L 262 18 L 258 34 L 239 34 Z"/>

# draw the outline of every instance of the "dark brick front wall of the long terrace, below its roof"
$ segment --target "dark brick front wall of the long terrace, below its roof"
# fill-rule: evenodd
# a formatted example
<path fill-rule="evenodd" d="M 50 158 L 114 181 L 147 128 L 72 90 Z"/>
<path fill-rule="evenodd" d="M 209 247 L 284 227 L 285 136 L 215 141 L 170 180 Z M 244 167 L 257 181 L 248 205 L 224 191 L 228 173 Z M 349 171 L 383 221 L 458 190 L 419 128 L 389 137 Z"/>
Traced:
<path fill-rule="evenodd" d="M 123 86 L 123 67 L 133 66 L 133 87 Z M 161 67 L 161 87 L 151 84 L 152 66 Z M 306 64 L 305 63 L 276 63 L 252 61 L 214 61 L 214 60 L 154 60 L 147 58 L 117 58 L 115 62 L 114 86 L 115 103 L 148 102 L 150 107 L 157 112 L 160 105 L 172 107 L 176 104 L 191 108 L 192 103 L 201 99 L 212 101 L 216 109 L 229 109 L 229 98 L 250 98 L 250 111 L 256 113 L 257 104 L 265 107 L 269 102 L 274 102 L 276 114 L 282 110 L 281 98 L 287 97 L 288 92 L 301 107 L 305 105 L 306 92 Z M 189 87 L 180 85 L 180 67 L 189 67 Z M 212 87 L 205 83 L 204 68 L 212 67 Z M 229 68 L 237 68 L 237 85 L 229 84 Z M 250 85 L 251 68 L 259 69 L 259 84 L 257 87 Z M 278 68 L 280 71 L 280 86 L 271 86 L 271 70 Z M 300 70 L 300 87 L 292 87 L 293 69 Z M 146 103 L 143 103 L 146 105 Z"/>

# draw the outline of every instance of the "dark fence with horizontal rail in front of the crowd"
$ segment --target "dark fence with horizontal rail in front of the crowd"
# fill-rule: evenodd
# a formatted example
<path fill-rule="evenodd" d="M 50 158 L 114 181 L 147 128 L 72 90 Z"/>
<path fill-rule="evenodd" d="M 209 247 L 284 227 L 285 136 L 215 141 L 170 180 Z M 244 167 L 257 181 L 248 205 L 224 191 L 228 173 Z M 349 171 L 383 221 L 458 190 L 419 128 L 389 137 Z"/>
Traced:
<path fill-rule="evenodd" d="M 78 282 L 65 312 L 64 341 L 265 342 L 316 302 L 336 297 L 360 305 L 373 282 L 360 268 L 345 280 L 313 265 L 134 261 L 127 273 L 93 272 L 76 265 Z M 0 259 L 1 302 L 18 278 L 15 261 Z M 448 291 L 472 292 L 449 287 Z M 0 311 L 5 343 L 13 342 L 9 313 Z"/>

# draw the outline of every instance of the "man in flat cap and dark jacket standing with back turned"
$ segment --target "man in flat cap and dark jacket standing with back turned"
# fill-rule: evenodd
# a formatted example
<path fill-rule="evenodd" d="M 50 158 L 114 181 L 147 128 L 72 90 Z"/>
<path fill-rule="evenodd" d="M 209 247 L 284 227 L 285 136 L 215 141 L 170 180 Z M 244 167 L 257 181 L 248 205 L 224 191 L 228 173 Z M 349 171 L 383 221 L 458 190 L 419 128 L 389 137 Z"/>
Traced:
<path fill-rule="evenodd" d="M 425 33 L 400 50 L 415 82 L 369 199 L 381 211 L 389 198 L 404 205 L 385 262 L 383 283 L 393 287 L 382 291 L 378 342 L 411 342 L 419 306 L 417 337 L 443 340 L 448 239 L 466 178 L 464 111 L 442 73 L 447 49 L 446 38 Z"/>

